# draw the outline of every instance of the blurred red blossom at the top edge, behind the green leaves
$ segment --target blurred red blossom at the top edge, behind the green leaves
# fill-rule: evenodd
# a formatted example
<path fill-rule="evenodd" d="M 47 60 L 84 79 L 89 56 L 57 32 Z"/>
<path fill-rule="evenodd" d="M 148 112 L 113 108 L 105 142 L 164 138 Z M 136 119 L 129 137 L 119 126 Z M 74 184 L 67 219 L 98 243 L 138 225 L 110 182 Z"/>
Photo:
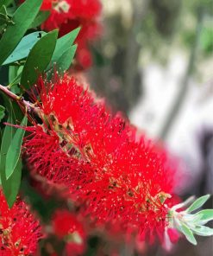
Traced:
<path fill-rule="evenodd" d="M 60 29 L 60 36 L 81 27 L 76 42 L 76 58 L 81 68 L 91 67 L 92 57 L 89 42 L 101 33 L 98 21 L 102 5 L 99 0 L 44 0 L 41 10 L 49 10 L 50 16 L 41 25 L 41 29 L 51 31 Z"/>

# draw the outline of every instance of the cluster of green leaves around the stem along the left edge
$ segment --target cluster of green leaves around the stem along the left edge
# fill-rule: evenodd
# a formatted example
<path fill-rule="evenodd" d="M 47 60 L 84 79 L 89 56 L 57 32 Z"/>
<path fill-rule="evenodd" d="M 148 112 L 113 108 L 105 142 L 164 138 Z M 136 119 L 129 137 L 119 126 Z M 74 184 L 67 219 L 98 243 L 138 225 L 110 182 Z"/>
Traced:
<path fill-rule="evenodd" d="M 57 70 L 63 73 L 71 66 L 76 52 L 77 46 L 73 42 L 79 29 L 74 29 L 60 39 L 57 39 L 58 30 L 28 33 L 28 29 L 40 26 L 49 16 L 48 11 L 40 11 L 41 3 L 41 0 L 26 0 L 16 9 L 14 1 L 0 0 L 0 66 L 4 78 L 0 84 L 8 81 L 7 86 L 12 93 L 24 93 L 19 83 L 29 89 L 40 74 L 53 71 L 55 62 Z M 20 124 L 21 120 L 21 126 L 27 125 L 28 118 L 23 117 L 16 102 L 10 101 L 7 95 L 3 94 L 2 97 L 4 105 L 0 106 L 0 120 L 7 115 L 7 123 L 11 125 L 6 125 L 1 131 L 0 180 L 11 208 L 21 184 L 21 146 L 24 136 L 24 130 L 14 125 L 17 122 Z"/>

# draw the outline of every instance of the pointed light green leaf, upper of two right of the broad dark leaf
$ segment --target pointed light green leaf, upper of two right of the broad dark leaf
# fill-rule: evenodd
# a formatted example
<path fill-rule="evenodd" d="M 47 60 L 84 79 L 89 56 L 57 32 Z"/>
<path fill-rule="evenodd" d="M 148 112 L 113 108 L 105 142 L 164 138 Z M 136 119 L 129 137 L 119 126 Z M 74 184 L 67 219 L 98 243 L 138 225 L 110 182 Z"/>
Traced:
<path fill-rule="evenodd" d="M 50 69 L 51 66 L 53 66 L 54 62 L 58 62 L 62 54 L 64 54 L 68 50 L 68 48 L 72 46 L 72 43 L 78 36 L 79 31 L 80 28 L 74 29 L 70 33 L 60 37 L 60 39 L 57 40 L 52 60 L 48 65 L 47 69 Z"/>

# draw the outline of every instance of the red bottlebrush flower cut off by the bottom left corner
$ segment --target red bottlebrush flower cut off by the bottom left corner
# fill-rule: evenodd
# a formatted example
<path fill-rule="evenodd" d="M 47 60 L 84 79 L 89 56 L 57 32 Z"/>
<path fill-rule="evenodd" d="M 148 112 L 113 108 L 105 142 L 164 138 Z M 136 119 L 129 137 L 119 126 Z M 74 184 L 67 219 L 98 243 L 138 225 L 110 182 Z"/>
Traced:
<path fill-rule="evenodd" d="M 20 199 L 12 208 L 0 191 L 0 254 L 3 256 L 32 255 L 41 239 L 39 221 Z"/>

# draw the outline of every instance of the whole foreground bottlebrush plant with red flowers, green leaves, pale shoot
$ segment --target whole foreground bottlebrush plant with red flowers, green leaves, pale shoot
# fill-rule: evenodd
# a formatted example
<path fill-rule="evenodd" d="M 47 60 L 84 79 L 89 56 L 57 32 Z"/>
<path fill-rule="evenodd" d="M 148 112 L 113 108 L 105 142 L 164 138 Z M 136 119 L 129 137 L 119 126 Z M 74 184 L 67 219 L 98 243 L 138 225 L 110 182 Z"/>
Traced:
<path fill-rule="evenodd" d="M 79 29 L 32 33 L 47 3 L 0 2 L 1 255 L 84 254 L 94 235 L 109 254 L 212 235 L 213 210 L 199 211 L 210 195 L 181 202 L 177 161 L 67 72 Z"/>

